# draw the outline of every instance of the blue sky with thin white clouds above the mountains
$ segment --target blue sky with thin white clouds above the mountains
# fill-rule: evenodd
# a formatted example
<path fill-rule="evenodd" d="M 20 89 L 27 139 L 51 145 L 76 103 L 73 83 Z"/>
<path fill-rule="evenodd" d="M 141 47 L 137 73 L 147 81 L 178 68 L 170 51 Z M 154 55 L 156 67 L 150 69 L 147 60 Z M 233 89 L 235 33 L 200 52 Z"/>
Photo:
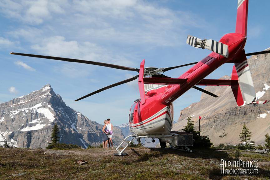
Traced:
<path fill-rule="evenodd" d="M 246 52 L 262 51 L 269 43 L 269 1 L 250 1 Z M 0 2 L 0 103 L 51 84 L 71 108 L 102 123 L 128 122 L 129 108 L 139 98 L 137 81 L 73 102 L 104 86 L 137 75 L 94 65 L 20 57 L 32 53 L 139 68 L 170 67 L 201 60 L 210 51 L 187 45 L 187 35 L 219 40 L 234 32 L 237 0 L 230 1 L 68 1 Z M 165 75 L 178 77 L 188 68 Z M 225 64 L 207 78 L 230 75 Z M 189 90 L 174 102 L 174 120 L 181 109 L 200 100 Z"/>

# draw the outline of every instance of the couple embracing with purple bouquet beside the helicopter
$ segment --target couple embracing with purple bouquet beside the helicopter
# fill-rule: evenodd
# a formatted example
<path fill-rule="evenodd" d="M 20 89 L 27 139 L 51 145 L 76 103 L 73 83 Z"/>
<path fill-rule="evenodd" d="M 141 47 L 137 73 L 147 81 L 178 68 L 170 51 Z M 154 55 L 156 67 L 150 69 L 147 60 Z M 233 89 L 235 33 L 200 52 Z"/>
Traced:
<path fill-rule="evenodd" d="M 103 148 L 107 148 L 107 144 L 109 144 L 109 147 L 113 148 L 113 125 L 111 124 L 111 120 L 107 119 L 104 121 L 104 126 L 102 128 L 103 136 L 102 136 L 102 141 L 103 141 Z"/>

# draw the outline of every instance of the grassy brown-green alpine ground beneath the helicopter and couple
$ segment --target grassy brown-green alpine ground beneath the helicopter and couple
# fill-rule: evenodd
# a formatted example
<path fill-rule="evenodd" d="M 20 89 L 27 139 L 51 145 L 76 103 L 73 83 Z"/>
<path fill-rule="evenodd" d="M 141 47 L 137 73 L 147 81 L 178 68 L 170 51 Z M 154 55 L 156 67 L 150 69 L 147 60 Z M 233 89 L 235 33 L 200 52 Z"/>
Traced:
<path fill-rule="evenodd" d="M 169 148 L 128 148 L 128 156 L 116 157 L 114 149 L 44 150 L 0 148 L 0 179 L 267 179 L 270 156 L 241 152 L 240 159 L 258 159 L 258 175 L 220 174 L 220 159 L 232 160 L 234 151 Z M 88 164 L 79 165 L 78 160 Z M 24 173 L 22 175 L 18 175 Z"/>

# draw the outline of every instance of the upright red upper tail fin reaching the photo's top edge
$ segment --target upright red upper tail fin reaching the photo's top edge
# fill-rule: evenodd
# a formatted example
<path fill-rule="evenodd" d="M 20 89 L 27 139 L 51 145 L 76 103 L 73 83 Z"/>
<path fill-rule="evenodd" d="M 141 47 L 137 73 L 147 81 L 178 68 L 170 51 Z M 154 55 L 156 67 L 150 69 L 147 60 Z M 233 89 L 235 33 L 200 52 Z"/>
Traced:
<path fill-rule="evenodd" d="M 238 0 L 235 33 L 247 36 L 248 0 Z"/>

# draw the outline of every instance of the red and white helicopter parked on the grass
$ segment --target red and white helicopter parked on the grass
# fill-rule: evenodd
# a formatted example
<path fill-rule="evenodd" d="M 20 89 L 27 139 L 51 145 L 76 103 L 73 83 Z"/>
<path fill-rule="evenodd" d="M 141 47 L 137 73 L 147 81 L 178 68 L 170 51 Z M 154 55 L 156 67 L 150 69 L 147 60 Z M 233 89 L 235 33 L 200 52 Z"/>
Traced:
<path fill-rule="evenodd" d="M 256 98 L 246 56 L 270 53 L 270 51 L 245 53 L 244 47 L 247 40 L 247 10 L 248 0 L 238 0 L 236 30 L 234 33 L 228 33 L 221 37 L 219 42 L 212 39 L 202 40 L 197 37 L 187 36 L 187 44 L 195 48 L 208 49 L 212 51 L 212 53 L 199 62 L 170 68 L 144 68 L 144 60 L 138 69 L 79 59 L 23 53 L 11 54 L 93 64 L 138 72 L 139 74 L 133 78 L 109 85 L 75 101 L 79 101 L 83 98 L 92 96 L 93 94 L 100 93 L 106 89 L 138 79 L 140 99 L 137 99 L 131 106 L 129 114 L 129 128 L 134 134 L 125 138 L 124 141 L 118 147 L 116 147 L 118 155 L 123 155 L 123 152 L 128 145 L 137 138 L 159 138 L 161 147 L 166 146 L 165 142 L 167 142 L 172 147 L 183 146 L 187 151 L 190 151 L 187 146 L 193 145 L 192 134 L 171 132 L 173 124 L 174 100 L 180 97 L 183 93 L 187 92 L 190 88 L 195 88 L 203 93 L 217 97 L 215 94 L 210 93 L 202 88 L 198 88 L 197 86 L 231 86 L 238 106 L 243 105 L 243 97 L 246 104 L 254 102 Z M 234 63 L 230 80 L 204 79 L 207 75 L 212 73 L 224 63 Z M 161 74 L 171 69 L 193 64 L 195 65 L 192 68 L 178 78 L 170 78 Z M 126 140 L 130 137 L 133 138 L 126 142 Z M 125 147 L 120 150 L 119 148 L 123 143 L 125 143 Z"/>

